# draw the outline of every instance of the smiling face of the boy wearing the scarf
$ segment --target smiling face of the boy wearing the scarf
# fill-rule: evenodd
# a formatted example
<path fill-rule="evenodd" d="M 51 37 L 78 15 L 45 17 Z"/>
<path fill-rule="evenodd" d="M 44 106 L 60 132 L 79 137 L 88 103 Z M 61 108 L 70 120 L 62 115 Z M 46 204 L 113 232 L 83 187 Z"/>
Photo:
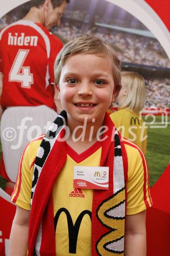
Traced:
<path fill-rule="evenodd" d="M 59 98 L 71 122 L 101 120 L 114 101 L 111 59 L 107 55 L 76 54 L 61 71 Z"/>

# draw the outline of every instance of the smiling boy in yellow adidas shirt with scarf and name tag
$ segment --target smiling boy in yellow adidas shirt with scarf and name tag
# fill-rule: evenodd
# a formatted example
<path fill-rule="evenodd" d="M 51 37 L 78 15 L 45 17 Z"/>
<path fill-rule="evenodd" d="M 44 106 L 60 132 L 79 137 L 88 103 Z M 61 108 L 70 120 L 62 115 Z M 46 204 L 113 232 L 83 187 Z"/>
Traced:
<path fill-rule="evenodd" d="M 84 35 L 61 50 L 55 77 L 65 111 L 21 156 L 9 255 L 25 255 L 27 247 L 28 255 L 145 255 L 145 209 L 152 205 L 147 164 L 106 114 L 120 90 L 118 58 L 101 39 Z M 96 166 L 106 168 L 106 184 Z M 93 172 L 92 189 L 74 181 L 78 168 L 85 176 Z"/>

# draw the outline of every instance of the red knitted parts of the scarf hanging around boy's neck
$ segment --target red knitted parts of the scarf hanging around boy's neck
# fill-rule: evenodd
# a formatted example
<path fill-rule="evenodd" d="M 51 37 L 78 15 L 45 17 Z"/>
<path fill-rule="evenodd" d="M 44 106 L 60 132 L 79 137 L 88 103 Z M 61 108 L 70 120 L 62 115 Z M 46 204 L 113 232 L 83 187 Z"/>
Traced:
<path fill-rule="evenodd" d="M 104 133 L 104 137 L 108 136 L 102 142 L 101 166 L 109 166 L 109 190 L 94 190 L 92 202 L 92 255 L 99 255 L 96 250 L 96 244 L 103 234 L 110 231 L 105 227 L 96 216 L 99 205 L 107 198 L 113 195 L 113 159 L 114 159 L 114 140 L 111 141 L 113 122 L 108 114 L 105 116 L 104 125 L 109 130 Z M 61 131 L 61 137 L 65 131 Z M 122 155 L 125 159 L 126 151 L 123 141 L 120 141 L 122 147 Z M 52 191 L 55 181 L 61 172 L 67 158 L 65 142 L 56 140 L 53 149 L 48 155 L 42 168 L 33 197 L 32 208 L 30 212 L 30 228 L 29 228 L 29 253 L 34 255 L 34 247 L 37 239 L 38 230 L 42 222 L 42 240 L 40 247 L 40 255 L 56 255 L 55 230 L 54 230 L 54 211 Z M 125 159 L 126 160 L 126 159 Z M 127 161 L 124 161 L 124 171 L 127 170 Z M 125 176 L 126 179 L 126 176 Z"/>

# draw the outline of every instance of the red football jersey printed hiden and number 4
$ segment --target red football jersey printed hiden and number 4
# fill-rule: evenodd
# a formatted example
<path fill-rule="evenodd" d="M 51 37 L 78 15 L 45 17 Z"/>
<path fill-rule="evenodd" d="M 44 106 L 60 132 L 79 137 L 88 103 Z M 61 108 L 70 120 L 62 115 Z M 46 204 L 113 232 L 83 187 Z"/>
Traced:
<path fill-rule="evenodd" d="M 62 42 L 41 24 L 26 20 L 0 33 L 0 72 L 4 74 L 1 105 L 47 105 L 54 103 L 54 61 Z"/>

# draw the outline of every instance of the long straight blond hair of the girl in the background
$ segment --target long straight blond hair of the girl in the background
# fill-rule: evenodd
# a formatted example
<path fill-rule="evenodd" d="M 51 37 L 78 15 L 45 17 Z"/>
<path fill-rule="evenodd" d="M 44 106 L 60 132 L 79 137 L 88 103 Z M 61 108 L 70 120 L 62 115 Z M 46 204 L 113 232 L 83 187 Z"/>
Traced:
<path fill-rule="evenodd" d="M 136 72 L 123 71 L 121 81 L 127 89 L 127 94 L 119 109 L 130 109 L 138 114 L 145 103 L 144 78 Z"/>

